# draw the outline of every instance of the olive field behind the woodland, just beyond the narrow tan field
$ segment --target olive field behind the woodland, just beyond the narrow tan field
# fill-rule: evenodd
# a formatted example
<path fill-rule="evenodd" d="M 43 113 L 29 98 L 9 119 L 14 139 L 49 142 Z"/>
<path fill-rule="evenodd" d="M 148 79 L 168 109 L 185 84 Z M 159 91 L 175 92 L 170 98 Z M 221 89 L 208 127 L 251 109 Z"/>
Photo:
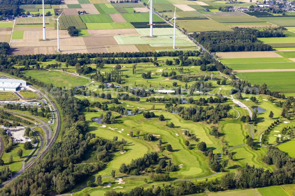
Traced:
<path fill-rule="evenodd" d="M 256 18 L 255 16 L 209 16 L 213 20 L 220 23 L 237 23 L 237 22 L 263 22 L 260 18 Z"/>

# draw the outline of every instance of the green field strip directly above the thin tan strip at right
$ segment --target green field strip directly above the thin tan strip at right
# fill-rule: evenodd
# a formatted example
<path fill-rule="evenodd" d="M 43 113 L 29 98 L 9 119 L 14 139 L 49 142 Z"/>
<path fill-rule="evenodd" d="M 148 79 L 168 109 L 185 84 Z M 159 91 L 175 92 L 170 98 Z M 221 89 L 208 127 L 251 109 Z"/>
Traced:
<path fill-rule="evenodd" d="M 242 69 L 295 69 L 295 62 L 284 63 L 249 63 L 249 64 L 226 64 L 228 68 L 233 70 Z"/>

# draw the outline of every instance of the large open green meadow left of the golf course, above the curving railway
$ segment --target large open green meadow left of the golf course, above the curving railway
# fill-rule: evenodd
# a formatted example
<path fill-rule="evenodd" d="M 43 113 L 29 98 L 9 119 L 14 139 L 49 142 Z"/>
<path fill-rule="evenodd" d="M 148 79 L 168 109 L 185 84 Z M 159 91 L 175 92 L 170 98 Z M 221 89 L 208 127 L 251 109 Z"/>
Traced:
<path fill-rule="evenodd" d="M 86 78 L 77 77 L 59 71 L 24 71 L 24 74 L 41 82 L 53 84 L 56 87 L 70 88 L 90 83 L 90 80 Z"/>

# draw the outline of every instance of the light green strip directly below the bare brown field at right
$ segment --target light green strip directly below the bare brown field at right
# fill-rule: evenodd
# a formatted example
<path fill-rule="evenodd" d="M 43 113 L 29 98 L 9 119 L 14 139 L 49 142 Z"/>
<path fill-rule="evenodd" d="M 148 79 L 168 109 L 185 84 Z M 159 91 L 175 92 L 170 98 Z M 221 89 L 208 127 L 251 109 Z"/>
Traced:
<path fill-rule="evenodd" d="M 237 58 L 237 59 L 219 59 L 224 64 L 249 64 L 249 63 L 280 63 L 292 62 L 285 57 L 269 58 Z"/>

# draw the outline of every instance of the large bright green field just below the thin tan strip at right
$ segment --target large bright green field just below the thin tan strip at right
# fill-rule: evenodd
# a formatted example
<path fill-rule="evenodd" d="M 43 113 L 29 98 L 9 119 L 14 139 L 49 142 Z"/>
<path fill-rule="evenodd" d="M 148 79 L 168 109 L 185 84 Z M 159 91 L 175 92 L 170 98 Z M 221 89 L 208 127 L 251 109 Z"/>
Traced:
<path fill-rule="evenodd" d="M 295 72 L 250 72 L 235 73 L 237 77 L 252 84 L 267 84 L 271 91 L 290 93 L 295 92 L 292 88 L 295 85 Z"/>

